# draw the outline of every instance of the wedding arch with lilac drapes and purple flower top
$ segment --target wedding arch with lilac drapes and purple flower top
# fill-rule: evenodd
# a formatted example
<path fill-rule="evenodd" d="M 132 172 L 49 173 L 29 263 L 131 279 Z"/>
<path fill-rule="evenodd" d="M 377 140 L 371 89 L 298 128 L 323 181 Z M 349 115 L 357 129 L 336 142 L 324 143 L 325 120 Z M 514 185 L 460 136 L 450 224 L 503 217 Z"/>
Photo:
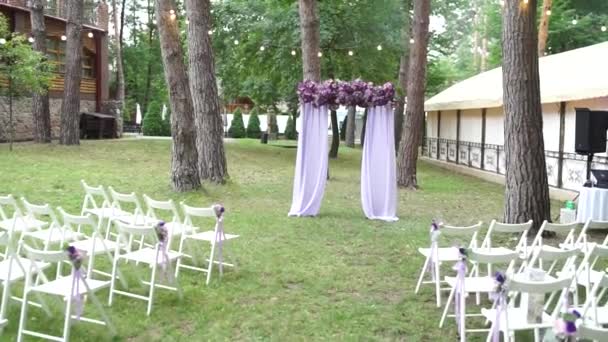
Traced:
<path fill-rule="evenodd" d="M 397 180 L 391 83 L 374 86 L 355 80 L 305 81 L 298 85 L 302 128 L 298 137 L 289 216 L 317 216 L 328 165 L 327 113 L 339 106 L 368 109 L 361 160 L 361 205 L 369 219 L 396 221 Z"/>

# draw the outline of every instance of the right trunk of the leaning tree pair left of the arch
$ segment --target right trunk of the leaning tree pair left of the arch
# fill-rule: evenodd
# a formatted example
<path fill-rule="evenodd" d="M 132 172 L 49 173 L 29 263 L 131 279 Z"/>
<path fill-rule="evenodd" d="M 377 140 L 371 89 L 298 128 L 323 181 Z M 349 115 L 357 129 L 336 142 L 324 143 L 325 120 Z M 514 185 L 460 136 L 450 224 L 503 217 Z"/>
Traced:
<path fill-rule="evenodd" d="M 223 121 L 215 79 L 209 0 L 186 0 L 190 92 L 198 130 L 198 170 L 201 180 L 223 183 L 228 178 Z"/>

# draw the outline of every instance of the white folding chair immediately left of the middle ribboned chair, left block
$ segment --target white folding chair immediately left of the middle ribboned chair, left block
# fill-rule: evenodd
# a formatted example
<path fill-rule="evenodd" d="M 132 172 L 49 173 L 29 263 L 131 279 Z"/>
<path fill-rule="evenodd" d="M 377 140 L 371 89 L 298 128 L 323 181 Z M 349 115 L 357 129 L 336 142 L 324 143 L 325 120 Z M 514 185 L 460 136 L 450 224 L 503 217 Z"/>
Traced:
<path fill-rule="evenodd" d="M 57 208 L 57 210 L 63 218 L 65 227 L 81 234 L 82 239 L 73 241 L 70 245 L 86 252 L 89 260 L 87 264 L 87 278 L 91 279 L 93 273 L 111 277 L 112 274 L 95 269 L 95 257 L 105 255 L 108 258 L 109 264 L 112 265 L 114 262 L 112 253 L 116 250 L 116 242 L 104 239 L 99 225 L 95 223 L 91 214 L 77 216 L 68 214 L 62 208 Z"/>

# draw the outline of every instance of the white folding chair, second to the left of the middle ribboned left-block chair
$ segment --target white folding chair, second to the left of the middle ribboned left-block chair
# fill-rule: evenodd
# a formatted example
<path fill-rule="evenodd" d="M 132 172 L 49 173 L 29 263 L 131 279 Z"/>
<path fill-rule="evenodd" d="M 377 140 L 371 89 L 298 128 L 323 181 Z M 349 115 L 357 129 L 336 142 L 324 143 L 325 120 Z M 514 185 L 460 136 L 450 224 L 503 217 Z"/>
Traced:
<path fill-rule="evenodd" d="M 79 237 L 75 231 L 64 227 L 57 220 L 57 216 L 51 206 L 48 204 L 37 205 L 28 202 L 25 198 L 21 198 L 23 205 L 27 211 L 27 216 L 33 222 L 42 221 L 43 218 L 50 220 L 48 228 L 23 232 L 22 239 L 33 239 L 34 246 L 38 246 L 36 241 L 42 241 L 44 250 L 47 250 L 51 245 L 63 246 L 64 242 L 74 241 Z"/>

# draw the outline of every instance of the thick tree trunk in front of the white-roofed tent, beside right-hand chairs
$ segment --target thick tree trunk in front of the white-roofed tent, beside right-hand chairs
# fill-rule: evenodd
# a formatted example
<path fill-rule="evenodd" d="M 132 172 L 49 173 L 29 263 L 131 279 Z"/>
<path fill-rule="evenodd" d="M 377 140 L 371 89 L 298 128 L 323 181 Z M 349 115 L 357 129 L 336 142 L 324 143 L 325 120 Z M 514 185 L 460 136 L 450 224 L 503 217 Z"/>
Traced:
<path fill-rule="evenodd" d="M 505 2 L 503 13 L 503 103 L 506 188 L 504 220 L 550 220 L 536 32 L 536 0 Z"/>

